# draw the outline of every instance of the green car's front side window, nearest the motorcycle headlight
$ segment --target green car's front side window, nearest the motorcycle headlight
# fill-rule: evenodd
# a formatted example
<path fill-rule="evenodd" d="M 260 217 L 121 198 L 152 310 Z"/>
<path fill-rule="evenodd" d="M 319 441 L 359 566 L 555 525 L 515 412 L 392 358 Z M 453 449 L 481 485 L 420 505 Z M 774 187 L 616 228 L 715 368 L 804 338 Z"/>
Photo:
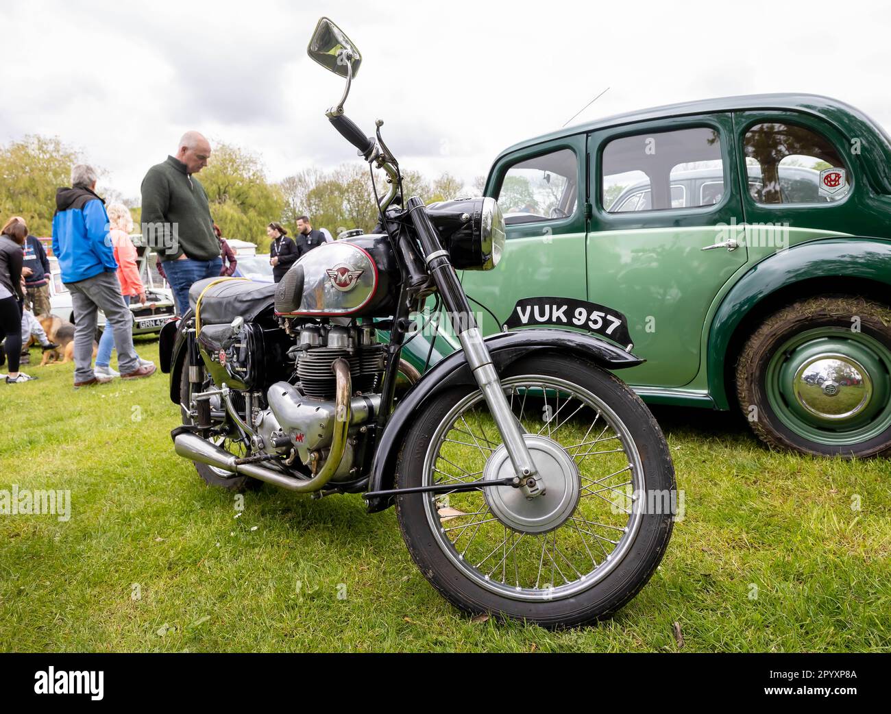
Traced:
<path fill-rule="evenodd" d="M 537 223 L 576 213 L 578 161 L 572 150 L 560 149 L 511 166 L 499 191 L 504 223 Z"/>

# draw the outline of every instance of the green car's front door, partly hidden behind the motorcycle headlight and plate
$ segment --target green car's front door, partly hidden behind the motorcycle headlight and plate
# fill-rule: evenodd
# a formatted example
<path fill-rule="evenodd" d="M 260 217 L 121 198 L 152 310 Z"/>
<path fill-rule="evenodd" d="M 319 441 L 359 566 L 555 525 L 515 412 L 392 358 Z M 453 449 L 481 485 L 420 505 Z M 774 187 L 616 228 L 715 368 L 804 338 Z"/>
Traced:
<path fill-rule="evenodd" d="M 584 144 L 584 134 L 543 142 L 493 166 L 486 195 L 505 217 L 504 254 L 495 270 L 464 271 L 462 285 L 502 323 L 524 297 L 586 299 Z M 502 330 L 471 305 L 484 334 Z"/>

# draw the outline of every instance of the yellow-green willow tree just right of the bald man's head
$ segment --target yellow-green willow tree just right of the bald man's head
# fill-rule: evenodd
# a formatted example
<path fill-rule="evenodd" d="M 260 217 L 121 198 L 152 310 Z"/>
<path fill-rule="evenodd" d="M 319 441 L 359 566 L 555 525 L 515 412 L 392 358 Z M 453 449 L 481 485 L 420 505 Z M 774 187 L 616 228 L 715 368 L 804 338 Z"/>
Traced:
<path fill-rule="evenodd" d="M 282 220 L 286 201 L 281 186 L 266 180 L 260 158 L 232 144 L 219 143 L 199 178 L 208 192 L 210 215 L 223 235 L 266 249 L 266 225 Z"/>

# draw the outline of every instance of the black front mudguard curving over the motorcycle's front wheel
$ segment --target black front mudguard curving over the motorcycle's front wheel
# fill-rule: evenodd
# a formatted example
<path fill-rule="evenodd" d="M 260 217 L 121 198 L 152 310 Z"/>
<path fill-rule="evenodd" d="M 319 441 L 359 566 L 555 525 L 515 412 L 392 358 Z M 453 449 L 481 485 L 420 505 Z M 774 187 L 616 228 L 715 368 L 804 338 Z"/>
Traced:
<path fill-rule="evenodd" d="M 606 369 L 624 369 L 643 362 L 641 358 L 625 352 L 621 347 L 568 329 L 520 329 L 516 332 L 502 332 L 486 337 L 486 346 L 499 373 L 520 357 L 542 350 L 574 354 Z M 396 457 L 402 447 L 405 431 L 412 424 L 417 410 L 423 408 L 437 394 L 457 385 L 476 385 L 463 350 L 451 353 L 429 369 L 396 405 L 374 454 L 368 491 L 393 488 Z M 392 505 L 392 499 L 368 500 L 370 513 Z"/>

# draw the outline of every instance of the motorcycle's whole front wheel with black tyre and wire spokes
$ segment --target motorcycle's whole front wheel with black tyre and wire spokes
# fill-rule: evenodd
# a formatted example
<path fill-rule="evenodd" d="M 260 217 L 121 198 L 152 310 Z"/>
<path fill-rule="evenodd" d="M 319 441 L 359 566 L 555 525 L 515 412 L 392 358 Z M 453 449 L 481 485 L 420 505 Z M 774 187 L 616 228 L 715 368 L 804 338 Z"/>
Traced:
<path fill-rule="evenodd" d="M 421 572 L 470 613 L 567 627 L 609 617 L 649 580 L 668 543 L 674 469 L 643 402 L 605 370 L 531 357 L 502 376 L 544 495 L 511 486 L 396 499 Z M 443 394 L 409 431 L 400 487 L 512 476 L 475 387 Z"/>

